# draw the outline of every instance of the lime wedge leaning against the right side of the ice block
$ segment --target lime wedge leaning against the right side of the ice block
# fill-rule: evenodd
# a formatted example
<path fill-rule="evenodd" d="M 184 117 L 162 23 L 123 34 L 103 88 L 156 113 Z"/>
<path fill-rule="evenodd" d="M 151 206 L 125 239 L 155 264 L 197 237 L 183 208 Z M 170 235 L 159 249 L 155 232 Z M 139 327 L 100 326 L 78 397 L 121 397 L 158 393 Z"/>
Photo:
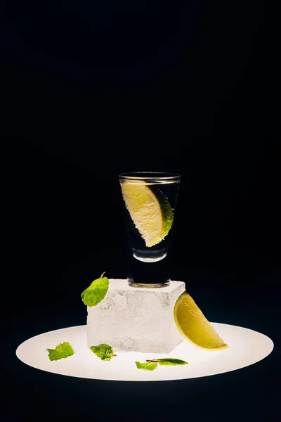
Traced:
<path fill-rule="evenodd" d="M 178 331 L 192 345 L 204 350 L 223 350 L 228 347 L 187 292 L 183 292 L 176 300 L 174 320 Z"/>

